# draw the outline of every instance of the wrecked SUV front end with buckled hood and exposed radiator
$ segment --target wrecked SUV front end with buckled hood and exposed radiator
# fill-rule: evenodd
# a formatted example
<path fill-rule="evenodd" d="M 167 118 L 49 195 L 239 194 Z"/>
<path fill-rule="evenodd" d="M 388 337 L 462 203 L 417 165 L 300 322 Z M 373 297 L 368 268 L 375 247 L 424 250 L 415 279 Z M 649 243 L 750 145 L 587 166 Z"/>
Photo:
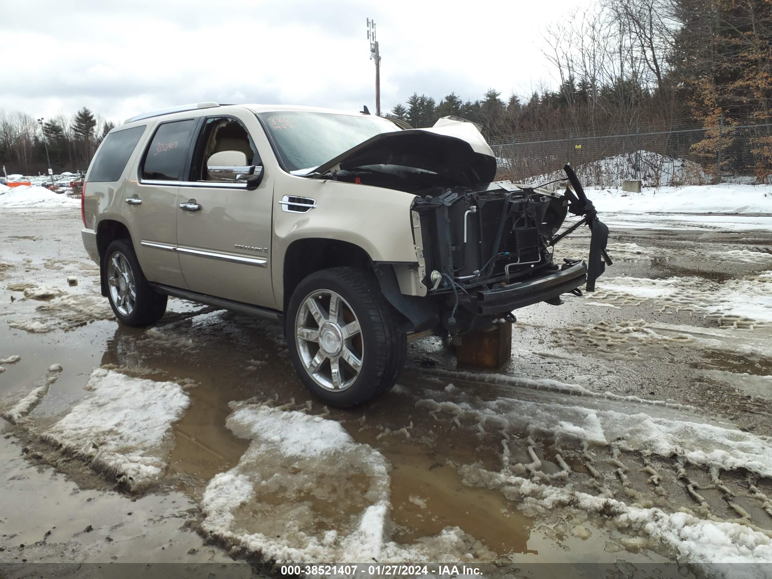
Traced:
<path fill-rule="evenodd" d="M 441 121 L 432 129 L 377 135 L 306 174 L 415 195 L 417 275 L 426 297 L 390 297 L 413 330 L 485 330 L 514 321 L 517 308 L 560 305 L 562 294 L 581 295 L 585 283 L 593 291 L 611 265 L 608 227 L 571 165 L 564 167 L 566 178 L 551 181 L 571 183 L 562 193 L 493 181 L 496 158 L 479 131 L 466 122 Z M 568 213 L 581 219 L 560 232 Z M 589 265 L 554 262 L 554 245 L 581 225 L 591 229 Z"/>

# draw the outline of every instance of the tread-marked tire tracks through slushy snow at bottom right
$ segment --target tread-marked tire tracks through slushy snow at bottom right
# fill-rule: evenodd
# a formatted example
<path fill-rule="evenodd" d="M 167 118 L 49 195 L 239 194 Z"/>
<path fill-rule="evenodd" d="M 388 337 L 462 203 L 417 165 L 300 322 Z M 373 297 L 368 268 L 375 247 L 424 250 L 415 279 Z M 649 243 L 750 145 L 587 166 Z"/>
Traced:
<path fill-rule="evenodd" d="M 454 388 L 404 394 L 435 421 L 476 437 L 480 446 L 498 449 L 495 468 L 454 465 L 465 484 L 498 489 L 529 516 L 547 516 L 557 507 L 591 513 L 598 523 L 626 533 L 621 543 L 628 550 L 699 560 L 703 552 L 696 545 L 674 538 L 688 527 L 703 543 L 710 543 L 716 531 L 728 541 L 732 556 L 772 560 L 772 445 L 767 438 L 690 422 L 700 418 L 688 407 L 609 399 L 581 392 L 581 387 L 579 394 L 567 395 L 566 388 L 550 388 L 550 381 L 499 378 L 496 391 L 479 398 L 480 381 L 463 373 L 417 374 L 455 374 Z M 604 409 L 609 402 L 617 408 Z M 628 421 L 629 428 L 613 425 L 615 420 Z M 634 422 L 660 430 L 647 437 Z M 667 444 L 655 440 L 668 436 Z M 736 452 L 723 447 L 735 443 Z M 743 533 L 750 533 L 757 550 L 746 550 Z"/>

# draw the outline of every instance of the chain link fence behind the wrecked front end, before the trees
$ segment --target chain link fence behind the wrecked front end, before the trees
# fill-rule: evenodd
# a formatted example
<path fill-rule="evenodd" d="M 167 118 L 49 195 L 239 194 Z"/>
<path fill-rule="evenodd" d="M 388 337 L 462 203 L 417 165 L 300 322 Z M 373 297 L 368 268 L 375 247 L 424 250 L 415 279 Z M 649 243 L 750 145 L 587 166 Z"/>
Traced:
<path fill-rule="evenodd" d="M 492 137 L 497 178 L 534 184 L 564 176 L 571 163 L 587 186 L 617 188 L 639 179 L 644 187 L 772 181 L 772 123 L 715 127 L 605 127 Z"/>

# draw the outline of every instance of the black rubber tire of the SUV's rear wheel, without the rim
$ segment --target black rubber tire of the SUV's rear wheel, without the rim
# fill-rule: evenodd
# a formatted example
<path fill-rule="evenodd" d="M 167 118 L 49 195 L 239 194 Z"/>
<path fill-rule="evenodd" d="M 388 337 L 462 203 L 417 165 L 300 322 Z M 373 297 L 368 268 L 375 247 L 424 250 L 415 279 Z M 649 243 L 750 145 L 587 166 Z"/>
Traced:
<path fill-rule="evenodd" d="M 125 258 L 130 268 L 131 277 L 134 279 L 136 298 L 133 307 L 128 313 L 126 306 L 119 306 L 116 303 L 110 286 L 110 260 L 117 254 Z M 123 265 L 123 262 L 121 264 Z M 167 296 L 156 293 L 150 284 L 147 283 L 130 239 L 116 239 L 110 245 L 107 245 L 107 249 L 102 256 L 102 275 L 105 276 L 104 279 L 107 284 L 107 300 L 110 300 L 110 307 L 113 308 L 113 313 L 115 313 L 115 317 L 118 318 L 120 323 L 132 327 L 150 326 L 160 320 L 164 312 L 166 312 Z M 121 309 L 124 311 L 121 311 Z"/>

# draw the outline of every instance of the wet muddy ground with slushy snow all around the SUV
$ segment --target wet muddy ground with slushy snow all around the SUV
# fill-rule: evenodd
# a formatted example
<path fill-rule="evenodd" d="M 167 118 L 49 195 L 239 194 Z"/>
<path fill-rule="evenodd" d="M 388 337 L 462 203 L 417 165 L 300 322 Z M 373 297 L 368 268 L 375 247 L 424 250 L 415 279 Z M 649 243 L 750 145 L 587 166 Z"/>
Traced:
<path fill-rule="evenodd" d="M 80 226 L 77 208 L 0 212 L 5 562 L 249 574 L 270 571 L 261 558 L 465 560 L 506 575 L 540 562 L 690 571 L 726 544 L 751 560 L 770 548 L 764 224 L 625 221 L 596 293 L 516 312 L 501 371 L 456 368 L 428 337 L 394 391 L 354 411 L 310 398 L 269 323 L 170 300 L 156 327 L 117 325 Z M 147 394 L 154 383 L 178 405 Z M 157 438 L 132 404 L 168 411 Z M 65 420 L 117 407 L 109 429 L 76 436 Z M 753 544 L 732 550 L 737 529 Z"/>

